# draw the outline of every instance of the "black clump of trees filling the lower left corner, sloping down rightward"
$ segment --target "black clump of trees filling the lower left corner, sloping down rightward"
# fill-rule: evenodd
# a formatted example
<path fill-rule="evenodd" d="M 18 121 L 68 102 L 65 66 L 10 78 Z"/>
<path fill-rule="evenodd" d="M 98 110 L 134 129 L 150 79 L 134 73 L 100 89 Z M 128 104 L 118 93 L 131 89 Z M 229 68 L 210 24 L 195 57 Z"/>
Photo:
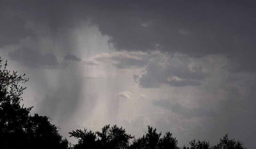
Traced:
<path fill-rule="evenodd" d="M 22 93 L 28 81 L 25 74 L 17 75 L 2 69 L 0 58 L 0 148 L 67 148 L 67 139 L 62 140 L 57 127 L 50 124 L 49 117 L 29 115 L 32 107 L 20 106 Z"/>

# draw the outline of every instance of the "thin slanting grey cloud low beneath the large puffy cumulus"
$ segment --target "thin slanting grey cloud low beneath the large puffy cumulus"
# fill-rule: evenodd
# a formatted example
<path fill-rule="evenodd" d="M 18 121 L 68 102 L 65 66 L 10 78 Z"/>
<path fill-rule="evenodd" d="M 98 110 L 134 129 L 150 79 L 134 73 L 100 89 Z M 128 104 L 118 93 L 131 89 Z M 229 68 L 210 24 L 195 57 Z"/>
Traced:
<path fill-rule="evenodd" d="M 178 103 L 172 104 L 167 99 L 153 100 L 153 104 L 179 114 L 182 117 L 191 119 L 193 117 L 215 117 L 216 113 L 211 109 L 186 108 Z"/>

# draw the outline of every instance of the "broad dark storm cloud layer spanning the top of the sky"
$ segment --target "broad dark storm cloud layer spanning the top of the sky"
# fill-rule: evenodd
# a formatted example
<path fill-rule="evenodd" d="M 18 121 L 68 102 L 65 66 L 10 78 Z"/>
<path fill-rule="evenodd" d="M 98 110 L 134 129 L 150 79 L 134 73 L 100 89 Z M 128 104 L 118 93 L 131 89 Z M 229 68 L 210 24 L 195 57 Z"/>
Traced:
<path fill-rule="evenodd" d="M 161 50 L 192 57 L 226 54 L 234 64 L 230 71 L 256 69 L 252 65 L 256 63 L 254 1 L 29 1 L 29 4 L 3 1 L 2 4 L 5 13 L 1 18 L 7 22 L 1 27 L 2 47 L 32 36 L 32 31 L 24 27 L 25 21 L 47 28 L 48 34 L 56 37 L 89 20 L 110 37 L 109 43 L 116 50 Z M 72 45 L 68 37 L 65 41 L 67 46 Z"/>

